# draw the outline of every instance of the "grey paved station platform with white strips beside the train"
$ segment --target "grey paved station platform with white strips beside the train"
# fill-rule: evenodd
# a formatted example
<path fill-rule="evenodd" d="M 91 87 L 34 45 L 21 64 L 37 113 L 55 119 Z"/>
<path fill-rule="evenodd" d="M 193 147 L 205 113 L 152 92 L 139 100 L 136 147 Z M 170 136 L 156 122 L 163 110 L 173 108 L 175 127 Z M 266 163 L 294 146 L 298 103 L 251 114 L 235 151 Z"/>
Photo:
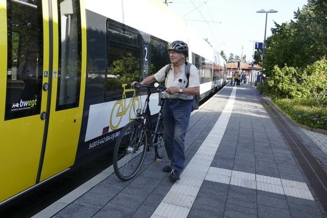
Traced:
<path fill-rule="evenodd" d="M 155 162 L 150 152 L 135 179 L 123 182 L 109 167 L 34 217 L 324 217 L 263 103 L 252 86 L 225 86 L 194 111 L 175 183 L 162 172 L 168 159 Z M 317 144 L 289 125 L 327 163 Z"/>

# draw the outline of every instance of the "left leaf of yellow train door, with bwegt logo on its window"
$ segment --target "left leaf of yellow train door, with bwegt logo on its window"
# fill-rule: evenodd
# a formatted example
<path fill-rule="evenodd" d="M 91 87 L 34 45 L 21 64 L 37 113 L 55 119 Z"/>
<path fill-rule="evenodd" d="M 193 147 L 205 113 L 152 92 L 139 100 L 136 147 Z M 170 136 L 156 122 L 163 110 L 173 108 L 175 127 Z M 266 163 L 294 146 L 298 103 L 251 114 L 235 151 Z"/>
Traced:
<path fill-rule="evenodd" d="M 0 202 L 37 180 L 49 82 L 46 2 L 0 0 Z"/>

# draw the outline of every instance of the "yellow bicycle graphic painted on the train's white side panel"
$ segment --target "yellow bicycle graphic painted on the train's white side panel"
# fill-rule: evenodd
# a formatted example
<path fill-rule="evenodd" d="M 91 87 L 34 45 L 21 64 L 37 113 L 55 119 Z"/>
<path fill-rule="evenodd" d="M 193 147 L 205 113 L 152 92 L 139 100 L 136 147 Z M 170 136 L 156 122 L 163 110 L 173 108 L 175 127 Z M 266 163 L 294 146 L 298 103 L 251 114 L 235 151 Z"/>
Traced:
<path fill-rule="evenodd" d="M 124 88 L 123 91 L 123 97 L 121 100 L 118 100 L 114 103 L 113 108 L 110 113 L 110 128 L 112 130 L 115 130 L 119 127 L 119 125 L 122 122 L 123 115 L 125 115 L 129 109 L 129 122 L 132 120 L 133 117 L 131 117 L 131 111 L 133 111 L 134 114 L 136 114 L 136 109 L 139 108 L 139 98 L 136 96 L 135 89 L 127 89 L 127 84 L 122 84 L 122 87 Z M 132 98 L 130 99 L 128 105 L 126 106 L 126 92 L 134 92 Z M 131 106 L 132 105 L 132 106 Z M 119 117 L 118 121 L 113 119 L 112 115 L 114 114 L 115 117 Z M 113 122 L 116 122 L 114 124 Z"/>

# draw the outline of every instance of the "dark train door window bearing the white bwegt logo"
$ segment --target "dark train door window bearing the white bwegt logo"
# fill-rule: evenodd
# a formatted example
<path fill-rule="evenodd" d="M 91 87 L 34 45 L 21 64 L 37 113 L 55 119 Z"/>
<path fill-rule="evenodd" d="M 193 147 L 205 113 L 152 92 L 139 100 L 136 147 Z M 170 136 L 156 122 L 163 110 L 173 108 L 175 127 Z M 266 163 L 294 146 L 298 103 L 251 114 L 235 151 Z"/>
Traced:
<path fill-rule="evenodd" d="M 5 120 L 40 114 L 43 26 L 41 0 L 7 1 Z"/>

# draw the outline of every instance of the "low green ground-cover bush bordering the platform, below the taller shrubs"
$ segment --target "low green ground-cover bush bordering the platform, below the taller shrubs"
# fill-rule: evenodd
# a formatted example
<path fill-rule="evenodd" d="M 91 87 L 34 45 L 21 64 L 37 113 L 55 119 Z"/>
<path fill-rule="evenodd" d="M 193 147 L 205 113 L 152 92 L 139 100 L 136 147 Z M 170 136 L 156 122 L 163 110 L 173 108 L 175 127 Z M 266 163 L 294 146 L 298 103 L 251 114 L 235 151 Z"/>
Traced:
<path fill-rule="evenodd" d="M 295 122 L 308 127 L 327 130 L 327 105 L 316 106 L 312 98 L 274 98 L 272 101 Z"/>

